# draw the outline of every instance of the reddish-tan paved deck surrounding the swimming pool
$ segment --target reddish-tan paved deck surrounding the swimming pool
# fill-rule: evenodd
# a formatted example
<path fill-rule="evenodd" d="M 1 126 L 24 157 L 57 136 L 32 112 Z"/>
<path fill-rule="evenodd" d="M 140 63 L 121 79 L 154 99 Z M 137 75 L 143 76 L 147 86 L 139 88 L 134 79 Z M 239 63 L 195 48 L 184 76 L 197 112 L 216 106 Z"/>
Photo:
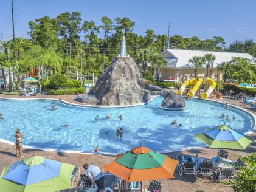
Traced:
<path fill-rule="evenodd" d="M 1 98 L 27 98 L 27 97 L 19 97 L 19 96 L 10 96 L 0 94 Z M 73 99 L 76 98 L 76 95 L 61 95 L 61 96 L 48 96 L 47 98 L 60 98 L 62 100 L 68 101 L 70 103 L 77 103 Z M 33 98 L 33 97 L 31 97 Z M 35 97 L 37 98 L 37 97 Z M 210 100 L 221 101 L 216 98 L 210 98 Z M 253 114 L 256 115 L 256 108 L 251 108 L 249 106 L 243 106 L 239 101 L 230 100 L 229 102 L 232 105 L 242 107 Z M 13 133 L 10 133 L 13 134 Z M 231 150 L 229 149 L 229 159 L 235 161 L 236 157 L 234 154 L 238 154 L 241 156 L 247 156 L 248 154 L 255 153 L 256 149 L 256 132 L 253 132 L 249 137 L 251 137 L 254 142 L 249 145 L 246 150 Z M 30 157 L 33 154 L 33 151 L 36 156 L 43 156 L 49 159 L 59 160 L 61 162 L 71 163 L 72 165 L 78 166 L 81 170 L 81 173 L 84 172 L 82 166 L 84 163 L 88 163 L 89 165 L 97 165 L 100 168 L 107 163 L 114 160 L 114 157 L 111 156 L 103 156 L 100 154 L 77 154 L 77 153 L 63 153 L 63 152 L 53 152 L 53 151 L 42 151 L 38 149 L 23 149 L 24 158 Z M 199 157 L 205 157 L 206 159 L 210 159 L 211 157 L 215 157 L 217 154 L 217 149 L 210 148 L 199 148 L 199 149 L 190 149 L 190 150 L 182 150 L 171 153 L 166 153 L 170 157 L 175 157 L 178 154 L 188 154 L 191 156 L 195 156 L 198 154 Z M 9 165 L 10 163 L 14 163 L 19 158 L 15 155 L 15 146 L 0 142 L 0 173 L 4 166 Z M 165 179 L 159 180 L 162 183 L 162 191 L 196 191 L 196 190 L 204 190 L 204 191 L 233 191 L 230 187 L 221 187 L 218 183 L 209 182 L 207 179 L 198 179 L 196 180 L 193 175 L 183 175 L 179 177 L 178 173 L 175 173 L 175 179 Z M 147 188 L 148 182 L 144 182 L 144 188 Z"/>

